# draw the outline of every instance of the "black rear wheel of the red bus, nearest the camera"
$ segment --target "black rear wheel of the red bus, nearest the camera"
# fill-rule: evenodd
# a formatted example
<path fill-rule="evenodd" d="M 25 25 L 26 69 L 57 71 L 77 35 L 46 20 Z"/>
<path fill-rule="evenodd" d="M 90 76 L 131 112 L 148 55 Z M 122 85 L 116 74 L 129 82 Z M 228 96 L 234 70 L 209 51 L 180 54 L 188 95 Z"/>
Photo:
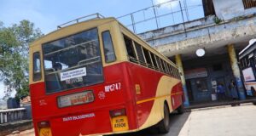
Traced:
<path fill-rule="evenodd" d="M 164 106 L 164 119 L 159 124 L 160 133 L 168 133 L 170 129 L 170 112 L 167 105 Z"/>

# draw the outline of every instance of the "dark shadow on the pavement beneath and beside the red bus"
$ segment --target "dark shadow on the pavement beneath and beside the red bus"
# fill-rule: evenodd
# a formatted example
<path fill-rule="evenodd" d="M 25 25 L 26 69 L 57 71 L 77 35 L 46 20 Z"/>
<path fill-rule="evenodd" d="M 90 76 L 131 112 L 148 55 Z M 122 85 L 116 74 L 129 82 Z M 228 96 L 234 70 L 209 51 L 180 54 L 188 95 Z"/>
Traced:
<path fill-rule="evenodd" d="M 189 118 L 190 112 L 185 112 L 182 115 L 176 113 L 170 115 L 171 127 L 169 133 L 157 134 L 158 130 L 155 127 L 144 129 L 137 133 L 114 134 L 111 136 L 177 136 L 183 128 L 185 122 Z"/>

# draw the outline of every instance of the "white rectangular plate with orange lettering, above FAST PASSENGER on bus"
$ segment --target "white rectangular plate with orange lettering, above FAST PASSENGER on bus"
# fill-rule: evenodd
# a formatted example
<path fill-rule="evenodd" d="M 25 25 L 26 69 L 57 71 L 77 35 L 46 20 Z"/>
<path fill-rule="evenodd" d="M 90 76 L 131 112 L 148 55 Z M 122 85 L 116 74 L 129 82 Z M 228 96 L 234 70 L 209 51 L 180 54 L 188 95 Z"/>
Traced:
<path fill-rule="evenodd" d="M 71 105 L 82 105 L 94 101 L 92 91 L 85 91 L 77 94 L 68 94 L 58 98 L 59 107 L 67 107 Z"/>

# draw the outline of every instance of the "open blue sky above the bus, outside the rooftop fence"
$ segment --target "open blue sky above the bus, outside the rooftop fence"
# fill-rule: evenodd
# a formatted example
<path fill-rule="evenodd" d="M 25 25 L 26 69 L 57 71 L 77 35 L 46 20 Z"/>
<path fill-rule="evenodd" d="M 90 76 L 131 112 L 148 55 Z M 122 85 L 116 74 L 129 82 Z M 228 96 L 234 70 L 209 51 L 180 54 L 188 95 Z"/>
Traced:
<path fill-rule="evenodd" d="M 1 0 L 0 20 L 5 25 L 30 20 L 48 33 L 58 25 L 87 14 L 117 17 L 150 5 L 150 0 Z"/>

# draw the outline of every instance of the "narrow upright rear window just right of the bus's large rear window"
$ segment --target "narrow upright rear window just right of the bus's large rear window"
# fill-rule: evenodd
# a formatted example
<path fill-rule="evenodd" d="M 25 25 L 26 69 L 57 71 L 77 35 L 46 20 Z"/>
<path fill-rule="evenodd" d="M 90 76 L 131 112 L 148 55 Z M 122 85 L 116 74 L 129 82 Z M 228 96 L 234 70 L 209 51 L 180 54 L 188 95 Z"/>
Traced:
<path fill-rule="evenodd" d="M 116 57 L 114 54 L 113 42 L 109 31 L 102 32 L 102 41 L 104 47 L 105 62 L 109 63 L 115 61 Z"/>

